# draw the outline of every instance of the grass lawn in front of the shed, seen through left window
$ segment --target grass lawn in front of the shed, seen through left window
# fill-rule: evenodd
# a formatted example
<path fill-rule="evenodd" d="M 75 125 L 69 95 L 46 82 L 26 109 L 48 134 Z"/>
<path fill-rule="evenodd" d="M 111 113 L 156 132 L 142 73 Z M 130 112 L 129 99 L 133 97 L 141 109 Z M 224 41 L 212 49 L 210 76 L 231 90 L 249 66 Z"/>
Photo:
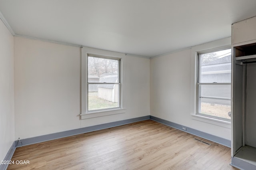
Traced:
<path fill-rule="evenodd" d="M 95 93 L 97 94 L 97 93 Z M 118 107 L 118 103 L 114 103 L 111 101 L 107 101 L 105 99 L 102 99 L 98 97 L 98 95 L 93 95 L 89 93 L 88 96 L 88 110 L 94 111 L 94 110 L 100 110 L 100 109 L 110 109 Z"/>

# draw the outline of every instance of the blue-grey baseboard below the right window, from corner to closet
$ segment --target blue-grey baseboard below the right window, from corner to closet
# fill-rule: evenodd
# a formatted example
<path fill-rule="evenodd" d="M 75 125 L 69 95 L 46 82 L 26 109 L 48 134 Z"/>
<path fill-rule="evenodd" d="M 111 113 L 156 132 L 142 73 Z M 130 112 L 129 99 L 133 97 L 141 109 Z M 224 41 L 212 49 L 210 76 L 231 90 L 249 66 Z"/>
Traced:
<path fill-rule="evenodd" d="M 154 117 L 154 116 L 150 116 L 150 119 L 153 120 L 153 121 L 156 121 L 156 122 L 159 122 L 159 123 L 162 123 L 164 125 L 167 125 L 167 126 L 170 126 L 170 127 L 173 127 L 173 128 L 176 128 L 178 130 L 182 130 L 182 127 L 185 127 L 185 126 L 182 126 L 182 125 L 179 125 L 177 123 L 173 123 L 173 122 L 170 122 L 170 121 L 166 121 L 164 119 L 160 119 L 158 117 Z M 202 137 L 202 138 L 205 138 L 207 140 L 211 140 L 213 142 L 216 142 L 218 144 L 222 144 L 224 146 L 227 146 L 229 148 L 231 148 L 231 141 L 228 140 L 228 139 L 224 139 L 224 138 L 221 138 L 221 137 L 218 137 L 218 136 L 214 136 L 212 134 L 208 134 L 206 132 L 202 132 L 200 130 L 196 130 L 196 129 L 193 129 L 193 128 L 189 128 L 189 127 L 186 127 L 187 128 L 187 131 L 184 131 L 184 132 L 188 132 L 190 134 L 194 134 L 196 136 L 199 136 L 199 137 Z"/>

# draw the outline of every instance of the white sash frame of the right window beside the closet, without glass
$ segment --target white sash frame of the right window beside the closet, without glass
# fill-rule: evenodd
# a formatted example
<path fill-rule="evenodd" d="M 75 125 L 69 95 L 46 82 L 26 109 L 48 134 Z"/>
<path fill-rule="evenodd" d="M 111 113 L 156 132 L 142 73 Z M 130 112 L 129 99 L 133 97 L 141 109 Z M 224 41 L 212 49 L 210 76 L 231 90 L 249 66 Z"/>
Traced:
<path fill-rule="evenodd" d="M 230 85 L 230 87 L 231 87 L 231 82 L 230 83 L 215 83 L 215 82 L 214 83 L 200 83 L 200 74 L 201 74 L 200 55 L 206 54 L 206 53 L 222 51 L 222 50 L 226 50 L 226 49 L 231 49 L 231 47 L 221 47 L 221 48 L 215 48 L 215 49 L 204 50 L 204 51 L 196 51 L 196 114 L 195 115 L 200 116 L 200 117 L 210 118 L 210 119 L 213 119 L 213 120 L 216 120 L 216 121 L 231 122 L 231 119 L 225 119 L 225 118 L 222 118 L 222 117 L 216 117 L 216 116 L 211 116 L 211 115 L 200 113 L 200 108 L 201 108 L 200 107 L 200 100 L 202 98 L 202 97 L 200 97 L 200 94 L 201 94 L 201 88 L 199 87 L 200 85 Z M 231 63 L 232 63 L 232 61 L 231 61 Z M 232 72 L 232 68 L 231 68 L 230 71 Z M 210 99 L 217 99 L 217 97 L 209 97 L 209 98 Z M 230 95 L 230 99 L 223 98 L 223 100 L 230 100 L 230 103 L 231 103 L 231 95 Z"/>

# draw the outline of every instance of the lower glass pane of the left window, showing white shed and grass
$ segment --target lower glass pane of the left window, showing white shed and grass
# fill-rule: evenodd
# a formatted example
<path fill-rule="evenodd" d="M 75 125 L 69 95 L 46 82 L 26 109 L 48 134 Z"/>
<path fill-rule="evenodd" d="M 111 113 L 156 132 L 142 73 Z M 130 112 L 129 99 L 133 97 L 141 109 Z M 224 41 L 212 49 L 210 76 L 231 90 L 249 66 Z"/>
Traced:
<path fill-rule="evenodd" d="M 119 106 L 119 85 L 89 84 L 88 111 L 117 108 Z"/>

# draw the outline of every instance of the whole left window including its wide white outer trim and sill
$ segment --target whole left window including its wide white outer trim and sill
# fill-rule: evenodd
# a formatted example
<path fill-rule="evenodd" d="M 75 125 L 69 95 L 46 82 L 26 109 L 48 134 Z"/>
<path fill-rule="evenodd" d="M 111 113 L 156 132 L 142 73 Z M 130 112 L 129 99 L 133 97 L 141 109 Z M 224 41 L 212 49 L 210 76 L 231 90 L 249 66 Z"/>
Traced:
<path fill-rule="evenodd" d="M 126 113 L 125 60 L 124 53 L 81 47 L 81 119 Z"/>

